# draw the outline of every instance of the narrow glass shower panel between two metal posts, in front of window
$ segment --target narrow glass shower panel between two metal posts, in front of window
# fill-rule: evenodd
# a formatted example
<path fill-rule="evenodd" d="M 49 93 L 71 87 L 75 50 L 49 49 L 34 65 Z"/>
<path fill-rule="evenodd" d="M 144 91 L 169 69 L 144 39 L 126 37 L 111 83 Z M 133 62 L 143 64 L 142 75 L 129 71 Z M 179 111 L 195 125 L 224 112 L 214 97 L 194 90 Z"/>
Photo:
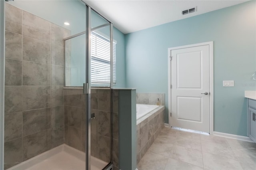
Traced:
<path fill-rule="evenodd" d="M 90 29 L 90 160 L 92 170 L 112 162 L 112 95 L 110 22 L 91 10 Z"/>

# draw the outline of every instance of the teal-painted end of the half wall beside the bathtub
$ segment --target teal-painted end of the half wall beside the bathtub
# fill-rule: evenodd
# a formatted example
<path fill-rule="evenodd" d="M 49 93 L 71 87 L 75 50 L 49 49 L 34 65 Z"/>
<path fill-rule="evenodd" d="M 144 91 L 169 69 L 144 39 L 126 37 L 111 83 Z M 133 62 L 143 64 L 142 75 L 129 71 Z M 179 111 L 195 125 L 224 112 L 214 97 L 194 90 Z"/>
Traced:
<path fill-rule="evenodd" d="M 136 90 L 118 91 L 119 169 L 137 168 Z"/>

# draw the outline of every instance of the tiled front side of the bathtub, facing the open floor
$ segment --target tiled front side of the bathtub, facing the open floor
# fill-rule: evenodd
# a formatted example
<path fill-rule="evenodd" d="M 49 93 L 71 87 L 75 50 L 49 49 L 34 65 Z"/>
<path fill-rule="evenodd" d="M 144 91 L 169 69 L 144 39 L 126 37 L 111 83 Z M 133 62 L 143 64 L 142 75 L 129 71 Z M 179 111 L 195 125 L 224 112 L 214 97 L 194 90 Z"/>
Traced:
<path fill-rule="evenodd" d="M 164 128 L 164 106 L 137 120 L 137 164 Z"/>

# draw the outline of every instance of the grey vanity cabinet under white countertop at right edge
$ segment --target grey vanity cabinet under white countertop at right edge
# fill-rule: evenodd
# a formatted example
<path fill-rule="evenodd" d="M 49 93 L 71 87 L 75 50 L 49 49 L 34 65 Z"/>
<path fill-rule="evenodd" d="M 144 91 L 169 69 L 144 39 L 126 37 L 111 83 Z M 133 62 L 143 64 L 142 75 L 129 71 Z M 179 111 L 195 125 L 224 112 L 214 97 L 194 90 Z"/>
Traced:
<path fill-rule="evenodd" d="M 248 136 L 256 142 L 256 100 L 248 99 Z"/>

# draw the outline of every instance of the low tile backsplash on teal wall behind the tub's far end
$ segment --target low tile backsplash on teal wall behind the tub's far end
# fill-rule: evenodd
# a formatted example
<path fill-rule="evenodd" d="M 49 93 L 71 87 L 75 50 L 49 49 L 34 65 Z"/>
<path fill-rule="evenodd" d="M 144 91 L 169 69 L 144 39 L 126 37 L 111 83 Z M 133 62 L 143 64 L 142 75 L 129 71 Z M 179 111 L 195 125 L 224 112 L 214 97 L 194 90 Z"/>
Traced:
<path fill-rule="evenodd" d="M 159 99 L 160 105 L 165 105 L 164 93 L 136 93 L 137 104 L 156 105 L 157 99 Z"/>

